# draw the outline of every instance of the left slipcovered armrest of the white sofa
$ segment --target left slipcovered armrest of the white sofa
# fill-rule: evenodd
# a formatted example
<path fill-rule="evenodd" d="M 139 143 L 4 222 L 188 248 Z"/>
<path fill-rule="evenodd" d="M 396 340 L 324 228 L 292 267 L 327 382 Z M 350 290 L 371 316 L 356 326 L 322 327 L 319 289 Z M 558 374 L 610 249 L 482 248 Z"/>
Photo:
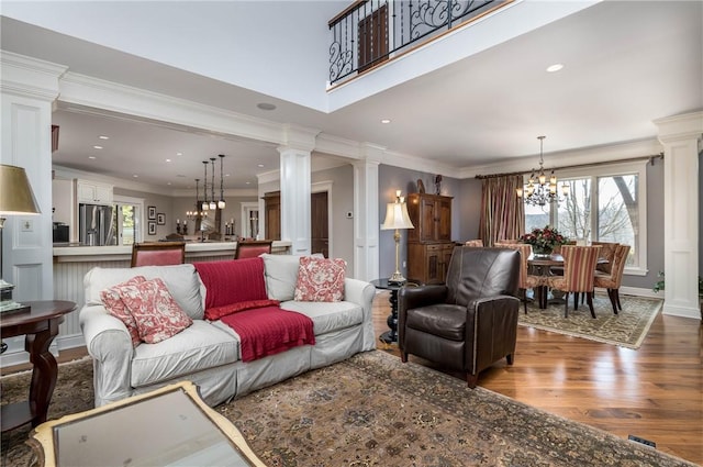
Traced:
<path fill-rule="evenodd" d="M 126 326 L 103 305 L 85 305 L 80 329 L 93 358 L 96 407 L 132 396 L 131 374 L 134 347 Z"/>

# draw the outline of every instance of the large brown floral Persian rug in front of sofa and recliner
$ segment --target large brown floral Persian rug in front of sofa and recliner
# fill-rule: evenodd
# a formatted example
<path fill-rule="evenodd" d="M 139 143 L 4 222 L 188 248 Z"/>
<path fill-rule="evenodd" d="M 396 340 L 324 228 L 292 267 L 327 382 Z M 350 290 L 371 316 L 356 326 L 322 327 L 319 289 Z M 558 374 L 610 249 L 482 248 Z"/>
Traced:
<path fill-rule="evenodd" d="M 89 408 L 89 364 L 59 375 L 49 416 Z M 3 403 L 27 382 L 4 378 Z M 215 409 L 271 467 L 693 466 L 380 351 Z M 3 437 L 4 465 L 29 465 L 27 432 Z"/>

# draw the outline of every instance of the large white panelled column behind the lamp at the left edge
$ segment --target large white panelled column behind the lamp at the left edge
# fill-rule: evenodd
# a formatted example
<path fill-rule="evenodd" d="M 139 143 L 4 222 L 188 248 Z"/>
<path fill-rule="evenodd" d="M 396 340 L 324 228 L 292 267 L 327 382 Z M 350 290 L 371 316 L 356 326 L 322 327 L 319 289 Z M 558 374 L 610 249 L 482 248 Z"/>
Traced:
<path fill-rule="evenodd" d="M 0 163 L 23 167 L 40 215 L 8 216 L 2 231 L 2 271 L 23 302 L 54 299 L 52 258 L 52 102 L 65 68 L 0 51 Z M 24 338 L 5 340 L 1 364 L 26 362 Z"/>

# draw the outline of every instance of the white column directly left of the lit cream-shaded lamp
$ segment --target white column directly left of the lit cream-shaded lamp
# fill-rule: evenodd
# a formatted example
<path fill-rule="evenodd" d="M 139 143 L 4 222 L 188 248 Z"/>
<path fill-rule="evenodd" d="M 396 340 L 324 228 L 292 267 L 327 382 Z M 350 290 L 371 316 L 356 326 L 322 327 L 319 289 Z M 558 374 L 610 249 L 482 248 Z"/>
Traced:
<path fill-rule="evenodd" d="M 373 280 L 379 275 L 378 167 L 382 148 L 364 146 L 365 159 L 354 162 L 354 277 Z"/>

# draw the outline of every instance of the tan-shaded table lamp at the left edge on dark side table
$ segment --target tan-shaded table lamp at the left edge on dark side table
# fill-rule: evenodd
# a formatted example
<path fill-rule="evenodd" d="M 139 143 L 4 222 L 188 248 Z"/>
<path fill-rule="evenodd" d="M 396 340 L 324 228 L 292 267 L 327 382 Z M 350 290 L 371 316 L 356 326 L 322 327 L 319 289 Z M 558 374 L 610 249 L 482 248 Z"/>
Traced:
<path fill-rule="evenodd" d="M 38 214 L 40 208 L 22 167 L 0 164 L 0 312 L 22 308 L 12 300 L 14 286 L 3 279 L 2 236 L 8 215 Z"/>

